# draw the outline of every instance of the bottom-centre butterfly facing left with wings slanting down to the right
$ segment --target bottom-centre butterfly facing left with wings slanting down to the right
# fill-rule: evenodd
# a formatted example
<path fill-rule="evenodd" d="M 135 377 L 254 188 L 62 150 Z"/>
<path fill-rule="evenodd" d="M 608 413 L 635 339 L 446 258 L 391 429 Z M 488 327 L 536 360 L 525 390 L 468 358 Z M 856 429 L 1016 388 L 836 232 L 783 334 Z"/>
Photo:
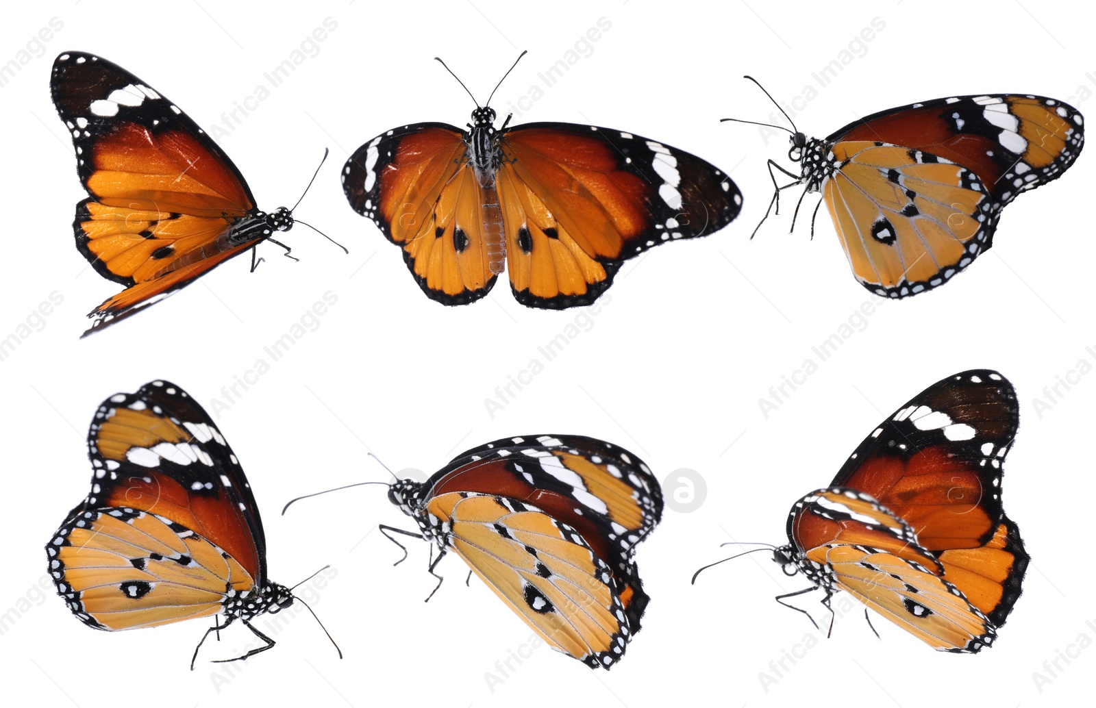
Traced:
<path fill-rule="evenodd" d="M 650 601 L 635 547 L 663 507 L 642 460 L 578 435 L 518 436 L 395 489 L 424 536 L 464 558 L 550 646 L 591 666 L 620 660 Z"/>

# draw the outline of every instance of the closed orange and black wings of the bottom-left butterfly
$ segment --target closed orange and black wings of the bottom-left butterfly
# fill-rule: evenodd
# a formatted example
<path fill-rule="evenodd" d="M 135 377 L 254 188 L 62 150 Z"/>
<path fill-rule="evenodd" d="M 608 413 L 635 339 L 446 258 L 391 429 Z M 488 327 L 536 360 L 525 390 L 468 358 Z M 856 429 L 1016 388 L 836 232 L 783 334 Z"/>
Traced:
<path fill-rule="evenodd" d="M 262 586 L 254 495 L 220 431 L 184 390 L 151 381 L 102 402 L 91 491 L 46 546 L 58 593 L 101 629 L 224 612 Z"/>

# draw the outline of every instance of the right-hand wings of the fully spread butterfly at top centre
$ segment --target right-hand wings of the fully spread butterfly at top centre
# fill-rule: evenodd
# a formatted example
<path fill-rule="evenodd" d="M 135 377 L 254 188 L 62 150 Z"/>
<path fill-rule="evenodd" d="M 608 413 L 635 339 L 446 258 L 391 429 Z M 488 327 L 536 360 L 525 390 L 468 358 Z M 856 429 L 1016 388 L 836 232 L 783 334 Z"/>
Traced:
<path fill-rule="evenodd" d="M 715 165 L 624 130 L 529 123 L 500 145 L 506 267 L 514 297 L 529 307 L 590 305 L 624 261 L 713 233 L 742 208 Z"/>

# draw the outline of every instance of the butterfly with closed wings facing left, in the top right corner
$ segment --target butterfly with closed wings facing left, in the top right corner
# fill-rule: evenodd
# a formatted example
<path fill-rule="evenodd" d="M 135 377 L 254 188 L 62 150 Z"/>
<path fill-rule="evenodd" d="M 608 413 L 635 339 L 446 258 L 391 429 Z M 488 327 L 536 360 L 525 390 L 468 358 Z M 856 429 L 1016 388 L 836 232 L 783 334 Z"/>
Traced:
<path fill-rule="evenodd" d="M 1084 146 L 1076 109 L 1030 94 L 913 103 L 825 139 L 788 133 L 788 158 L 801 163 L 800 173 L 768 161 L 776 187 L 769 209 L 776 204 L 779 213 L 783 190 L 820 192 L 814 214 L 824 202 L 853 275 L 890 298 L 935 288 L 970 265 L 993 245 L 1005 205 L 1061 176 Z M 773 168 L 795 182 L 778 185 Z"/>

